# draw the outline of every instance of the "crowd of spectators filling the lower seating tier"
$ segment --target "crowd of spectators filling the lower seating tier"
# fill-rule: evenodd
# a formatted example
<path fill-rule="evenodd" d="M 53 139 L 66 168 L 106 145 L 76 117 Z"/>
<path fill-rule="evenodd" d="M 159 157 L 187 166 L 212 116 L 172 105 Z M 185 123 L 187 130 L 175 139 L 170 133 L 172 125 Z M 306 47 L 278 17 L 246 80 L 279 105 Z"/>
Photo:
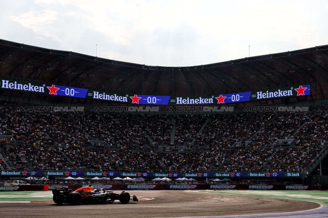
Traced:
<path fill-rule="evenodd" d="M 141 152 L 126 149 L 20 145 L 11 146 L 8 156 L 34 169 L 87 169 L 138 172 L 215 172 L 278 170 L 307 167 L 322 151 L 321 146 L 219 149 L 197 152 Z M 67 157 L 63 153 L 66 153 Z M 260 164 L 260 161 L 262 163 Z M 263 168 L 263 163 L 268 168 Z M 219 163 L 219 164 L 216 164 Z"/>

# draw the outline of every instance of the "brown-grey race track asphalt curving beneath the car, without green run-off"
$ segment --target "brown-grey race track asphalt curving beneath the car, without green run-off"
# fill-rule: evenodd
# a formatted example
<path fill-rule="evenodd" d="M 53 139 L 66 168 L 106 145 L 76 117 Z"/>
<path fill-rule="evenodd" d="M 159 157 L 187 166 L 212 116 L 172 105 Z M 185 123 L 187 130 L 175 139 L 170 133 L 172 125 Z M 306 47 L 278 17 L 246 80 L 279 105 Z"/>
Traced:
<path fill-rule="evenodd" d="M 114 191 L 115 192 L 115 191 Z M 120 193 L 116 191 L 115 193 Z M 129 191 L 153 200 L 106 205 L 0 203 L 1 217 L 204 217 L 282 213 L 319 208 L 314 202 L 186 191 Z"/>

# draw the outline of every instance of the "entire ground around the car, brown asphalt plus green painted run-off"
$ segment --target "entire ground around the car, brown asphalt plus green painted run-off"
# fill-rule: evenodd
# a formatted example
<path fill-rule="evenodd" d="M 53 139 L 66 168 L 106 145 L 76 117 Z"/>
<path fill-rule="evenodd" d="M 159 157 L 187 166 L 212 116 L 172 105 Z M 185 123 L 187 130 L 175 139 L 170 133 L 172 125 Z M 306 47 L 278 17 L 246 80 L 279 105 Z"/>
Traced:
<path fill-rule="evenodd" d="M 120 192 L 114 191 L 114 193 Z M 131 201 L 125 205 L 114 202 L 113 204 L 72 206 L 53 203 L 51 191 L 0 192 L 0 208 L 2 217 L 17 218 L 49 216 L 114 218 L 328 217 L 327 191 L 163 190 L 128 192 L 130 195 L 139 196 L 139 201 Z"/>

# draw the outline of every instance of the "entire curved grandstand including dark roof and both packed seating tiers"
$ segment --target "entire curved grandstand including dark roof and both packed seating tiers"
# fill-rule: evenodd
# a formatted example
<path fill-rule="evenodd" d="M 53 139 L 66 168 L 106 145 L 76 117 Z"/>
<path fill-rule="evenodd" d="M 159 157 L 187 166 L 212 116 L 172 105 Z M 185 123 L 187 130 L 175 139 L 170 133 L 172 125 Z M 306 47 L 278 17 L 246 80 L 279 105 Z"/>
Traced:
<path fill-rule="evenodd" d="M 298 172 L 231 178 L 327 185 L 327 50 L 159 67 L 0 40 L 0 169 Z"/>

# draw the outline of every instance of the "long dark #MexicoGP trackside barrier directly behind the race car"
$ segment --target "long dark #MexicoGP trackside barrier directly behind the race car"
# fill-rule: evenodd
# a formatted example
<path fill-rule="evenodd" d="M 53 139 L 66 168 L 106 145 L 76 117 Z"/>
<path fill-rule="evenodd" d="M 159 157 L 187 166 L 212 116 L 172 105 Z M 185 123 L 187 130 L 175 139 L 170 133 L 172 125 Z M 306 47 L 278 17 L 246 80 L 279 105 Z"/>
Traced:
<path fill-rule="evenodd" d="M 94 189 L 105 190 L 321 190 L 321 185 L 273 185 L 273 184 L 75 184 L 49 185 L 49 190 L 55 187 L 77 189 L 91 185 Z"/>

